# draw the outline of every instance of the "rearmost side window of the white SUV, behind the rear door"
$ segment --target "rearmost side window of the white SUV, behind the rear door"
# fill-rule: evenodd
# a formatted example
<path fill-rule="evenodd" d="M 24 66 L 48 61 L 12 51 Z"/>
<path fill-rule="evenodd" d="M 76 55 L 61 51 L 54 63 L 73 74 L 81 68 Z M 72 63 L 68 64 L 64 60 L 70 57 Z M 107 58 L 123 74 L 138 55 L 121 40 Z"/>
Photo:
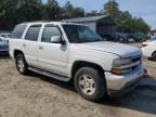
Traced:
<path fill-rule="evenodd" d="M 12 31 L 11 38 L 21 39 L 27 25 L 17 25 Z"/>

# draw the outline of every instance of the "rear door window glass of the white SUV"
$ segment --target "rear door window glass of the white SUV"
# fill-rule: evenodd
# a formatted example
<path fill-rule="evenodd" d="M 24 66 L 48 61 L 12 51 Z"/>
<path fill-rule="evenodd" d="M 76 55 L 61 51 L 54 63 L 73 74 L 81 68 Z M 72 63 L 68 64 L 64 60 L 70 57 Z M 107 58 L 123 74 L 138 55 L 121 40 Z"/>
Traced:
<path fill-rule="evenodd" d="M 41 25 L 30 26 L 25 36 L 25 39 L 30 40 L 30 41 L 37 41 L 40 28 L 41 28 Z"/>

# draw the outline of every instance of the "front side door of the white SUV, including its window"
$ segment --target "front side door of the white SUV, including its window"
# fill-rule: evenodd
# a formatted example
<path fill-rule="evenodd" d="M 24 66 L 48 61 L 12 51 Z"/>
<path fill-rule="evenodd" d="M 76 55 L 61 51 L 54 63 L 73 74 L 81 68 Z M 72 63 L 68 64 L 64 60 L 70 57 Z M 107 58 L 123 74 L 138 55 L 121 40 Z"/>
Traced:
<path fill-rule="evenodd" d="M 53 36 L 62 36 L 60 28 L 46 25 L 38 47 L 38 62 L 41 68 L 64 75 L 67 73 L 68 47 L 52 43 Z"/>

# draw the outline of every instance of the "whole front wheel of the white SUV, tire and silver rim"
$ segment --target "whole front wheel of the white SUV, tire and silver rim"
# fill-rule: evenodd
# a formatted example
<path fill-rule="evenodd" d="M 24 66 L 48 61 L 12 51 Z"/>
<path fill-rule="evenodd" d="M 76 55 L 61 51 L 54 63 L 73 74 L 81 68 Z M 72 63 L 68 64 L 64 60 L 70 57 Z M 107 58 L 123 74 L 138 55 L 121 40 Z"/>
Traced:
<path fill-rule="evenodd" d="M 104 74 L 91 67 L 80 68 L 75 77 L 76 91 L 84 99 L 100 101 L 106 94 Z"/>

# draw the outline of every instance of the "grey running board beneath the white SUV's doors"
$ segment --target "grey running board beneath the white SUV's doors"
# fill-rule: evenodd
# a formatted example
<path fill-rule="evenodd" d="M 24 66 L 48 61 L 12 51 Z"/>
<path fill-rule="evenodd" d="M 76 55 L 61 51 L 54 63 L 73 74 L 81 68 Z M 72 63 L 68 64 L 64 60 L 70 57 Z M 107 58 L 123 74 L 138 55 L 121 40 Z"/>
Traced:
<path fill-rule="evenodd" d="M 37 74 L 40 74 L 40 75 L 43 75 L 43 76 L 47 76 L 47 77 L 50 77 L 50 78 L 53 78 L 53 79 L 56 79 L 56 80 L 61 80 L 61 81 L 64 81 L 64 82 L 68 82 L 70 80 L 70 78 L 68 78 L 68 77 L 61 76 L 61 75 L 57 75 L 57 74 L 53 74 L 53 73 L 50 73 L 50 72 L 46 72 L 46 70 L 42 70 L 42 69 L 39 69 L 39 68 L 28 67 L 28 69 L 31 70 L 31 72 L 35 72 Z"/>

